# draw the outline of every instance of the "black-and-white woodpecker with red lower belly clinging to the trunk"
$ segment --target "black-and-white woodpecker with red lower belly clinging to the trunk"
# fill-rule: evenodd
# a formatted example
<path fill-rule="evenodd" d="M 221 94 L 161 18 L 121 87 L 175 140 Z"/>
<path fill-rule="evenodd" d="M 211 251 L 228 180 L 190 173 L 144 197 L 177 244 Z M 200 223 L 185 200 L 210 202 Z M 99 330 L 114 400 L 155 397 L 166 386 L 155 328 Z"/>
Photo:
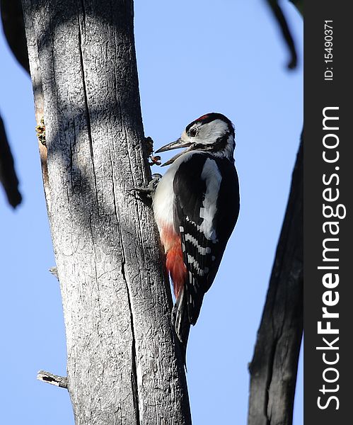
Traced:
<path fill-rule="evenodd" d="M 181 137 L 156 153 L 187 147 L 170 165 L 153 196 L 154 217 L 173 282 L 172 322 L 183 344 L 199 317 L 239 213 L 233 124 L 221 113 L 192 121 Z"/>

